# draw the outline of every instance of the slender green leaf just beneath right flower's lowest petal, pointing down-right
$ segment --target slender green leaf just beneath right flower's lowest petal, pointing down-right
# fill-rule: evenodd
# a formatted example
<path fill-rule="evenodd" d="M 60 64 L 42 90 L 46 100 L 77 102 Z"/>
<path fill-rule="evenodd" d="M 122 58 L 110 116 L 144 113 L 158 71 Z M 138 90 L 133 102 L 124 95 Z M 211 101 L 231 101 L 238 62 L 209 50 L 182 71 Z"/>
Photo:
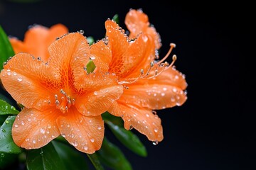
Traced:
<path fill-rule="evenodd" d="M 135 135 L 132 131 L 119 127 L 118 125 L 114 125 L 114 123 L 110 122 L 109 120 L 105 120 L 105 123 L 107 123 L 114 136 L 117 137 L 117 139 L 122 142 L 125 147 L 132 150 L 139 156 L 146 157 L 146 147 L 144 147 L 137 135 Z"/>

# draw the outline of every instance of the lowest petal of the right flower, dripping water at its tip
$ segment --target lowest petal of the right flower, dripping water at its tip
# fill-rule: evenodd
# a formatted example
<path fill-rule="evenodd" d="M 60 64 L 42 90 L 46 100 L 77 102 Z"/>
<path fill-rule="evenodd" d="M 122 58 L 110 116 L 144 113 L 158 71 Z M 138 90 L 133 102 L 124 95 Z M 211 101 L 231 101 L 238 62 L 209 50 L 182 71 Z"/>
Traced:
<path fill-rule="evenodd" d="M 150 109 L 115 102 L 108 111 L 121 116 L 127 130 L 135 128 L 151 141 L 161 142 L 164 139 L 161 119 Z"/>

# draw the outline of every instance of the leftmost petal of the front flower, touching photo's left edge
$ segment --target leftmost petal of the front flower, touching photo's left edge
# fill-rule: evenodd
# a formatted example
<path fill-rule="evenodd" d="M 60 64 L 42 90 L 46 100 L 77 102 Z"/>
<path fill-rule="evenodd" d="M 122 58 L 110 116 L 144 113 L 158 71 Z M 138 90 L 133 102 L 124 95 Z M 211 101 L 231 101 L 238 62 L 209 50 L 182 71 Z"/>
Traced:
<path fill-rule="evenodd" d="M 53 74 L 48 65 L 31 55 L 15 55 L 4 65 L 0 75 L 4 88 L 26 108 L 42 111 L 55 101 L 51 91 L 60 84 L 56 79 L 58 76 Z"/>

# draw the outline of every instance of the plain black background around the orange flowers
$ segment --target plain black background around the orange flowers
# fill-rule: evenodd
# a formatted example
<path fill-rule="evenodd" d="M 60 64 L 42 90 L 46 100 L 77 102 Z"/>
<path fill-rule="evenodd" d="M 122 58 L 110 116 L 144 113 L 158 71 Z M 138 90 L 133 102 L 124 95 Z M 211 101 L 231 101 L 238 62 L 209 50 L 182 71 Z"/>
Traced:
<path fill-rule="evenodd" d="M 142 8 L 161 35 L 160 57 L 175 42 L 176 68 L 186 74 L 188 101 L 157 111 L 164 127 L 159 145 L 133 130 L 146 145 L 139 157 L 119 145 L 134 169 L 256 169 L 255 83 L 253 49 L 255 8 L 246 1 L 46 1 L 21 4 L 0 1 L 0 25 L 23 40 L 34 23 L 63 23 L 70 32 L 84 30 L 97 39 L 105 21 L 129 8 Z M 171 58 L 169 59 L 171 62 Z"/>

